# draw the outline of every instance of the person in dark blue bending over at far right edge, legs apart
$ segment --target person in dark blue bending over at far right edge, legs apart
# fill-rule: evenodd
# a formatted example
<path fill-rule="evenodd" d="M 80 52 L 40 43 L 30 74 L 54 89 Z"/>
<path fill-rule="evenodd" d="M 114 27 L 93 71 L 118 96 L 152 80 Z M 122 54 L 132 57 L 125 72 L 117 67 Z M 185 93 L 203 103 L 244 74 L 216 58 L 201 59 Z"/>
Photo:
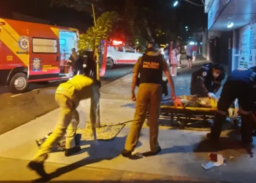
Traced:
<path fill-rule="evenodd" d="M 222 125 L 226 121 L 227 110 L 232 102 L 238 98 L 239 114 L 241 115 L 241 137 L 244 144 L 252 142 L 253 128 L 253 87 L 256 84 L 256 73 L 251 69 L 236 69 L 231 72 L 221 91 L 218 101 L 218 111 L 216 113 L 214 124 L 207 138 L 218 141 Z"/>

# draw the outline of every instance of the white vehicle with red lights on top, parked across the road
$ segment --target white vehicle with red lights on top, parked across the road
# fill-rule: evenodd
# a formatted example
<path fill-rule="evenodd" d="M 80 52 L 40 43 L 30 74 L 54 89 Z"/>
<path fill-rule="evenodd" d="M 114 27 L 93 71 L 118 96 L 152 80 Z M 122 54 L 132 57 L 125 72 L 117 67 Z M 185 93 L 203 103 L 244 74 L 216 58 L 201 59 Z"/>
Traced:
<path fill-rule="evenodd" d="M 108 45 L 108 52 L 106 54 L 106 68 L 113 69 L 115 65 L 134 65 L 139 57 L 143 54 L 136 53 L 136 51 L 123 44 Z"/>

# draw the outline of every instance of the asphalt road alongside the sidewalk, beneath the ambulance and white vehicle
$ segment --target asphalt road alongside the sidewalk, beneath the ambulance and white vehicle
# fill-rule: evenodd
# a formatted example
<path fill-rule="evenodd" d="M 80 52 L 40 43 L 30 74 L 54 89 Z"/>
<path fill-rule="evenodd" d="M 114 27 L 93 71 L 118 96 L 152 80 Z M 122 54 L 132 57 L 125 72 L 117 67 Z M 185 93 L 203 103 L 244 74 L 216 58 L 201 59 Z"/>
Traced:
<path fill-rule="evenodd" d="M 131 66 L 106 70 L 101 84 L 111 83 L 132 70 Z M 0 135 L 56 109 L 54 93 L 58 84 L 30 84 L 29 91 L 23 94 L 12 94 L 6 87 L 0 87 Z"/>

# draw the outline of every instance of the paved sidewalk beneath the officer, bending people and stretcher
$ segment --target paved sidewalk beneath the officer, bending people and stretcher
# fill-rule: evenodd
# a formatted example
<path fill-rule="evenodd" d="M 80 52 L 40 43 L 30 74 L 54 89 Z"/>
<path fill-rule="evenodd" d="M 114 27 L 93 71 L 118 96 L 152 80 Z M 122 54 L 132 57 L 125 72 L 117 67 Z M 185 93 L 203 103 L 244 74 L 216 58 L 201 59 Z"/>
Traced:
<path fill-rule="evenodd" d="M 203 62 L 198 61 L 197 65 Z M 190 75 L 195 69 L 197 68 L 181 69 L 174 78 L 177 95 L 189 94 Z M 121 123 L 133 119 L 134 109 L 121 107 L 132 103 L 131 76 L 126 75 L 101 88 L 102 123 Z M 82 102 L 89 106 L 89 101 Z M 38 178 L 25 166 L 37 150 L 35 139 L 52 131 L 57 115 L 58 109 L 0 136 L 0 181 L 28 182 Z M 229 132 L 223 133 L 220 146 L 212 147 L 208 141 L 203 140 L 206 132 L 171 130 L 161 126 L 161 153 L 144 159 L 129 160 L 119 155 L 129 127 L 130 123 L 127 123 L 114 140 L 100 141 L 99 146 L 92 146 L 90 141 L 82 141 L 82 150 L 77 155 L 67 158 L 63 152 L 51 153 L 46 163 L 46 171 L 56 177 L 52 181 L 256 182 L 255 159 L 250 158 L 238 142 L 226 138 Z M 148 151 L 148 140 L 148 127 L 143 126 L 136 150 Z M 206 171 L 201 164 L 209 162 L 208 152 L 219 152 L 228 162 Z M 234 160 L 229 160 L 230 156 L 234 156 Z"/>

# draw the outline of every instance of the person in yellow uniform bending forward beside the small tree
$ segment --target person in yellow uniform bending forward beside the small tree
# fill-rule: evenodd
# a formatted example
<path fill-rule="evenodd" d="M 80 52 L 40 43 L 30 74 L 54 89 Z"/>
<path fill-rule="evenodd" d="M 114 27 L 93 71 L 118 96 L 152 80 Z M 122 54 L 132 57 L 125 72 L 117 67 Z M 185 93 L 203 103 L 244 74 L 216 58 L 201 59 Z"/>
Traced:
<path fill-rule="evenodd" d="M 65 135 L 66 131 L 65 155 L 70 156 L 81 150 L 80 146 L 75 145 L 74 140 L 79 123 L 79 114 L 76 108 L 81 99 L 91 98 L 90 118 L 92 124 L 96 124 L 97 104 L 100 97 L 99 87 L 98 81 L 94 82 L 90 77 L 84 75 L 75 75 L 70 81 L 58 86 L 55 93 L 55 100 L 60 108 L 57 125 L 50 137 L 40 146 L 34 159 L 28 164 L 28 168 L 36 171 L 42 177 L 47 177 L 44 161 L 48 158 L 51 147 Z"/>

